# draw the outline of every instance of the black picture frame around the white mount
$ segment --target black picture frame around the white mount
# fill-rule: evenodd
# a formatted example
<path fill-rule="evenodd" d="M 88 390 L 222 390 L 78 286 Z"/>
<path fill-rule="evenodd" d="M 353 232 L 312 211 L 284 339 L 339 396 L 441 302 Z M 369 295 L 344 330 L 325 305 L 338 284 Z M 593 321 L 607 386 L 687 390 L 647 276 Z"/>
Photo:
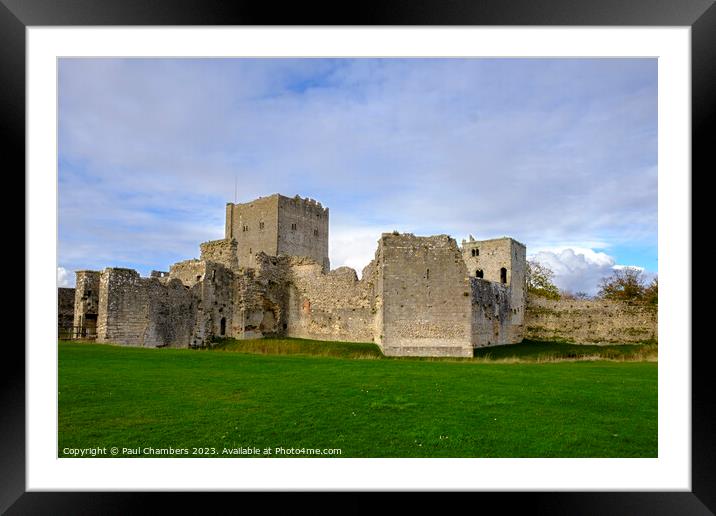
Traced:
<path fill-rule="evenodd" d="M 317 3 L 286 3 L 277 9 L 271 3 L 243 0 L 0 0 L 0 113 L 2 126 L 8 129 L 2 139 L 4 164 L 8 170 L 10 167 L 25 169 L 25 29 L 29 26 L 689 26 L 692 43 L 691 177 L 694 178 L 695 170 L 701 170 L 702 175 L 716 170 L 711 150 L 716 125 L 716 6 L 713 4 L 713 0 L 404 0 L 361 2 L 353 9 L 346 8 L 351 4 L 338 2 L 333 3 L 333 7 Z M 693 270 L 698 268 L 696 260 L 693 266 Z M 27 268 L 25 274 L 28 274 Z M 29 324 L 31 309 L 27 307 L 26 324 Z M 684 515 L 716 511 L 716 424 L 713 417 L 716 398 L 710 381 L 710 348 L 708 342 L 692 345 L 691 492 L 478 493 L 479 503 L 499 504 L 502 512 L 524 504 L 532 512 L 550 514 Z M 0 363 L 0 512 L 132 514 L 148 511 L 152 505 L 149 502 L 153 501 L 159 501 L 167 509 L 177 506 L 188 512 L 206 509 L 208 496 L 242 497 L 244 507 L 249 503 L 247 493 L 189 496 L 188 493 L 169 492 L 26 492 L 24 349 L 6 346 Z"/>

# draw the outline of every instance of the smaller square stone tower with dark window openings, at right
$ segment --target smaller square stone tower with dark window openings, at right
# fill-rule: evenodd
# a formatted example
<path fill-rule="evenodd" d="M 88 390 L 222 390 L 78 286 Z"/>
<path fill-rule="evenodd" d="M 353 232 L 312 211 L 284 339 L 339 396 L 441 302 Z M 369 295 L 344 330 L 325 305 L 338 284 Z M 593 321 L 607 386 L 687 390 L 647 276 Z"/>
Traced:
<path fill-rule="evenodd" d="M 524 321 L 527 247 L 513 238 L 462 241 L 468 275 L 501 283 L 509 289 L 512 324 Z"/>

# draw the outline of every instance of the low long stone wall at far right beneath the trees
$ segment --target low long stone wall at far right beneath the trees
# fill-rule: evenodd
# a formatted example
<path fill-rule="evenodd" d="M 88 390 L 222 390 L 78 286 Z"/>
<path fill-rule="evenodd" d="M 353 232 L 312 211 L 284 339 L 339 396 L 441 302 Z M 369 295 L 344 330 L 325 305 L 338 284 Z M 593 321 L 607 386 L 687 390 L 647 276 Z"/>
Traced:
<path fill-rule="evenodd" d="M 606 300 L 557 301 L 528 296 L 525 338 L 576 344 L 628 344 L 658 339 L 657 310 Z"/>

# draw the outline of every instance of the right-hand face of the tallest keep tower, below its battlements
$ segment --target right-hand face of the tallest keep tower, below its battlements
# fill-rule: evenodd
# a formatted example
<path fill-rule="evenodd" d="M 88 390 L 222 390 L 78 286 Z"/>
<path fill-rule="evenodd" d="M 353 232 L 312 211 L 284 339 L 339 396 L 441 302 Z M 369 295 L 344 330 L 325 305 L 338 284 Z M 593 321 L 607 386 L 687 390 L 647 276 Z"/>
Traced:
<path fill-rule="evenodd" d="M 278 213 L 278 252 L 275 254 L 308 256 L 324 271 L 330 270 L 328 208 L 312 199 L 279 195 Z"/>

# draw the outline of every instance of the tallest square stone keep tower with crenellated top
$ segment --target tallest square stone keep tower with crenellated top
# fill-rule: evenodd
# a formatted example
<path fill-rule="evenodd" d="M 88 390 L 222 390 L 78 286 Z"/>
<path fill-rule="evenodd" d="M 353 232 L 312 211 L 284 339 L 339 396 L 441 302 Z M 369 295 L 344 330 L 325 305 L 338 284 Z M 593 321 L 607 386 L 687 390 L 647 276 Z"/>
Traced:
<path fill-rule="evenodd" d="M 330 269 L 328 208 L 313 199 L 280 194 L 226 204 L 226 239 L 235 239 L 240 267 L 255 267 L 259 251 L 308 256 Z"/>

